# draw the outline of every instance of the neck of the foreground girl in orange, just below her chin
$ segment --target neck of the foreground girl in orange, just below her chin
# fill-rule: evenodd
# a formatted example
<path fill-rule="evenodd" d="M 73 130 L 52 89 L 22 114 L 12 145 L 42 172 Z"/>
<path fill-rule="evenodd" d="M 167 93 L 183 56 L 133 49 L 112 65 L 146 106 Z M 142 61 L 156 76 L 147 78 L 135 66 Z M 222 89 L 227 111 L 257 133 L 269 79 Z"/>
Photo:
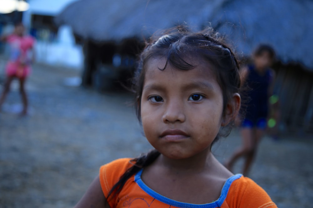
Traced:
<path fill-rule="evenodd" d="M 215 161 L 210 149 L 184 159 L 172 159 L 160 155 L 158 162 L 170 172 L 201 172 L 208 169 Z"/>

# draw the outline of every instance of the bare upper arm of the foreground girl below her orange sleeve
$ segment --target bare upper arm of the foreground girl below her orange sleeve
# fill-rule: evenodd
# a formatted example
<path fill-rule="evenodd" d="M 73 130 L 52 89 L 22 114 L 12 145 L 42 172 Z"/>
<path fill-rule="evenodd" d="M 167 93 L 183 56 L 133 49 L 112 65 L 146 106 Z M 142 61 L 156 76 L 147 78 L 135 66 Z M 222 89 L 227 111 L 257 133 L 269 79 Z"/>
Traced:
<path fill-rule="evenodd" d="M 91 183 L 90 187 L 80 199 L 77 205 L 74 208 L 110 208 L 106 202 L 105 196 L 103 195 L 99 176 Z"/>

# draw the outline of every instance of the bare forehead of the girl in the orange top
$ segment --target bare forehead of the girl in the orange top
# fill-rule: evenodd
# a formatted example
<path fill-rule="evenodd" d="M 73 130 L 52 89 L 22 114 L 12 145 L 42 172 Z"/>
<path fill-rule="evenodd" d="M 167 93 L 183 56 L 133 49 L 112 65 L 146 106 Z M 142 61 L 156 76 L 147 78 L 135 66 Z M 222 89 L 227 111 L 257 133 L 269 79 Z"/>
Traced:
<path fill-rule="evenodd" d="M 146 64 L 145 83 L 190 83 L 190 82 L 214 82 L 217 84 L 213 68 L 207 61 L 188 60 L 194 67 L 190 70 L 182 70 L 167 64 L 165 58 L 151 58 Z M 166 65 L 167 64 L 167 65 Z M 166 67 L 165 67 L 166 66 Z M 165 69 L 164 69 L 165 67 Z"/>

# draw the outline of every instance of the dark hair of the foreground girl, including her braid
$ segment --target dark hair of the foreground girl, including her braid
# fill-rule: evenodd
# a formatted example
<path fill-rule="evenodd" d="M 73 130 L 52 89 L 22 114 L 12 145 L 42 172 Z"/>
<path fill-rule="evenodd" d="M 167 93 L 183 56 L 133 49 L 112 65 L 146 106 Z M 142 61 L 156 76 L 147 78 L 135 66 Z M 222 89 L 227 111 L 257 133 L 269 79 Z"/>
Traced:
<path fill-rule="evenodd" d="M 234 93 L 239 92 L 239 65 L 231 49 L 223 42 L 223 38 L 214 32 L 212 28 L 195 33 L 186 28 L 177 27 L 163 33 L 162 36 L 153 36 L 140 55 L 133 79 L 133 90 L 136 93 L 136 113 L 140 122 L 140 103 L 147 65 L 152 58 L 161 57 L 165 57 L 167 61 L 164 68 L 160 70 L 164 70 L 167 65 L 180 70 L 191 70 L 195 66 L 187 62 L 187 57 L 206 60 L 213 68 L 213 73 L 223 91 L 223 112 L 225 112 L 229 99 Z M 227 136 L 230 129 L 228 128 L 224 133 L 220 131 L 213 143 L 219 136 Z M 160 152 L 154 149 L 147 154 L 141 155 L 141 157 L 131 160 L 134 163 L 133 166 L 112 187 L 107 200 L 115 197 L 132 175 L 136 174 L 141 168 L 149 166 L 159 155 Z M 112 193 L 113 196 L 109 198 Z"/>

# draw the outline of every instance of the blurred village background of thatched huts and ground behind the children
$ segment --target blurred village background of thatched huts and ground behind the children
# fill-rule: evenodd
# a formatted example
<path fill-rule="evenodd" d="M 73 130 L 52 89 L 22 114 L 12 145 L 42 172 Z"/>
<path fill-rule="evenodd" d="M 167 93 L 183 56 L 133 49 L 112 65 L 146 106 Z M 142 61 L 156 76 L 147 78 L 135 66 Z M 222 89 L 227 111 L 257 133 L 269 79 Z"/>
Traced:
<path fill-rule="evenodd" d="M 0 0 L 0 34 L 23 22 L 36 39 L 28 115 L 17 115 L 17 80 L 0 112 L 0 207 L 72 207 L 100 165 L 151 148 L 125 86 L 144 41 L 177 25 L 213 27 L 243 62 L 260 43 L 273 46 L 279 116 L 250 177 L 279 207 L 311 207 L 312 19 L 311 0 Z M 8 53 L 0 42 L 1 91 Z M 214 153 L 223 162 L 240 143 L 234 129 Z"/>

